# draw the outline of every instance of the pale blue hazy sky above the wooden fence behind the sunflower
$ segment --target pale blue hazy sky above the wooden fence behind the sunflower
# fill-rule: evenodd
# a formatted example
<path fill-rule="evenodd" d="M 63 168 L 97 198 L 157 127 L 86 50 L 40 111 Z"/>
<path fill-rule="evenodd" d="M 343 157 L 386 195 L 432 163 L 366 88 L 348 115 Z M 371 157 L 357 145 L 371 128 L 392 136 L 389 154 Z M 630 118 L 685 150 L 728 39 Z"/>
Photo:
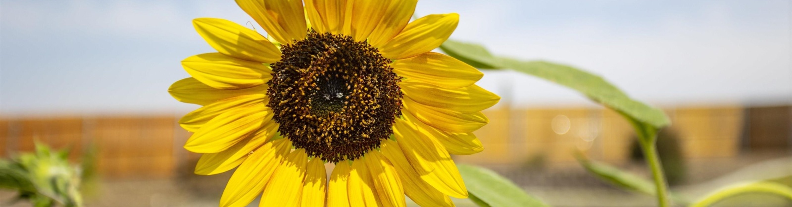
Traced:
<path fill-rule="evenodd" d="M 451 38 L 598 73 L 660 106 L 792 103 L 790 1 L 421 0 L 459 13 Z M 2 0 L 0 113 L 181 113 L 179 62 L 211 52 L 196 17 L 252 21 L 233 1 Z M 588 103 L 535 77 L 480 85 L 524 107 Z"/>

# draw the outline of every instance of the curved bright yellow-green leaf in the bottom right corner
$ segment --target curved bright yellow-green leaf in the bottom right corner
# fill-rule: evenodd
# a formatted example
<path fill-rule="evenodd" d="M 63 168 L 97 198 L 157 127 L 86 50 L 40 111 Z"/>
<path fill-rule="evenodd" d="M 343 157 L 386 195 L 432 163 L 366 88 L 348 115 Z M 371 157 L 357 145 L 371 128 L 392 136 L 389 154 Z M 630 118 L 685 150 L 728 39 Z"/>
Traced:
<path fill-rule="evenodd" d="M 699 199 L 699 201 L 695 201 L 695 203 L 693 203 L 691 206 L 710 206 L 717 203 L 718 201 L 722 201 L 725 198 L 748 193 L 776 194 L 792 201 L 792 188 L 789 186 L 784 186 L 779 183 L 760 182 L 725 186 L 722 189 L 715 190 L 714 192 L 704 196 L 703 198 Z M 792 202 L 790 202 L 790 204 L 792 204 Z"/>

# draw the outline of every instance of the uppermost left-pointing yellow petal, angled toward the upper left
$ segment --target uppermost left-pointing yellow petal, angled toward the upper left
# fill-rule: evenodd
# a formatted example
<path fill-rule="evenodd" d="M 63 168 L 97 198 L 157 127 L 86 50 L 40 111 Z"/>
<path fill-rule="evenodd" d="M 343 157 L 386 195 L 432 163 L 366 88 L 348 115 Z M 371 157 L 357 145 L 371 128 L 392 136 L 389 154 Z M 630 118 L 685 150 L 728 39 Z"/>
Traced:
<path fill-rule="evenodd" d="M 231 21 L 197 18 L 192 25 L 211 47 L 223 55 L 253 62 L 278 62 L 280 51 L 256 31 Z"/>

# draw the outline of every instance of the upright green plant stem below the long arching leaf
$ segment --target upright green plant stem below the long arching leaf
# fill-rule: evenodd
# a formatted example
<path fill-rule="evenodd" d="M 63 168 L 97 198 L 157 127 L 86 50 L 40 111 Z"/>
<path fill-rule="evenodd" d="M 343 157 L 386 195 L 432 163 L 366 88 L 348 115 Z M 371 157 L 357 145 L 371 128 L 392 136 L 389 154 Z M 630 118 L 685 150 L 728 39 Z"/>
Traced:
<path fill-rule="evenodd" d="M 652 178 L 654 179 L 654 186 L 656 186 L 657 205 L 660 207 L 668 207 L 668 186 L 665 183 L 665 175 L 663 175 L 663 166 L 660 164 L 660 156 L 657 154 L 657 134 L 652 134 L 653 137 L 642 139 L 641 149 L 643 149 L 646 164 L 652 169 Z"/>

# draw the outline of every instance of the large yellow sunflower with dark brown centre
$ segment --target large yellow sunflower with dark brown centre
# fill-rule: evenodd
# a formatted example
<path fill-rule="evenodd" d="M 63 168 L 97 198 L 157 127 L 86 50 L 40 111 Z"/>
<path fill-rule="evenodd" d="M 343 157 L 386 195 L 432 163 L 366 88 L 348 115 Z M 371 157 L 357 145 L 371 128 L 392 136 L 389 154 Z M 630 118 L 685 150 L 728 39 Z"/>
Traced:
<path fill-rule="evenodd" d="M 198 18 L 216 53 L 186 58 L 170 94 L 199 175 L 236 167 L 221 206 L 451 206 L 467 190 L 451 154 L 500 100 L 483 74 L 432 52 L 459 15 L 409 22 L 417 0 L 237 0 L 268 34 Z M 280 134 L 280 135 L 278 135 Z M 326 167 L 333 167 L 327 174 Z"/>

